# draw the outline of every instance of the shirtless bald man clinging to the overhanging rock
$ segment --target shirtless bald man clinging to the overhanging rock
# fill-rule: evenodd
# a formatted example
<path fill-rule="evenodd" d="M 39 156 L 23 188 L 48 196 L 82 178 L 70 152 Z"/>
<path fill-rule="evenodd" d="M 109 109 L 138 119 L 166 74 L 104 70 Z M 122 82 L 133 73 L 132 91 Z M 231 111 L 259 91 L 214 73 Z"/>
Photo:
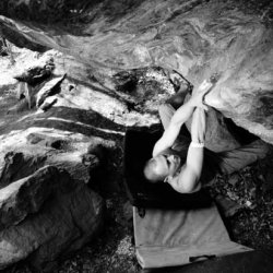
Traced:
<path fill-rule="evenodd" d="M 232 174 L 266 156 L 271 145 L 262 140 L 224 152 L 205 149 L 206 110 L 205 95 L 213 83 L 204 81 L 193 88 L 188 102 L 185 92 L 178 92 L 159 107 L 164 127 L 162 138 L 155 143 L 153 157 L 145 164 L 144 176 L 151 182 L 167 182 L 180 193 L 201 189 L 215 175 Z M 213 109 L 212 109 L 213 110 Z M 180 133 L 182 124 L 191 120 L 190 138 Z"/>

